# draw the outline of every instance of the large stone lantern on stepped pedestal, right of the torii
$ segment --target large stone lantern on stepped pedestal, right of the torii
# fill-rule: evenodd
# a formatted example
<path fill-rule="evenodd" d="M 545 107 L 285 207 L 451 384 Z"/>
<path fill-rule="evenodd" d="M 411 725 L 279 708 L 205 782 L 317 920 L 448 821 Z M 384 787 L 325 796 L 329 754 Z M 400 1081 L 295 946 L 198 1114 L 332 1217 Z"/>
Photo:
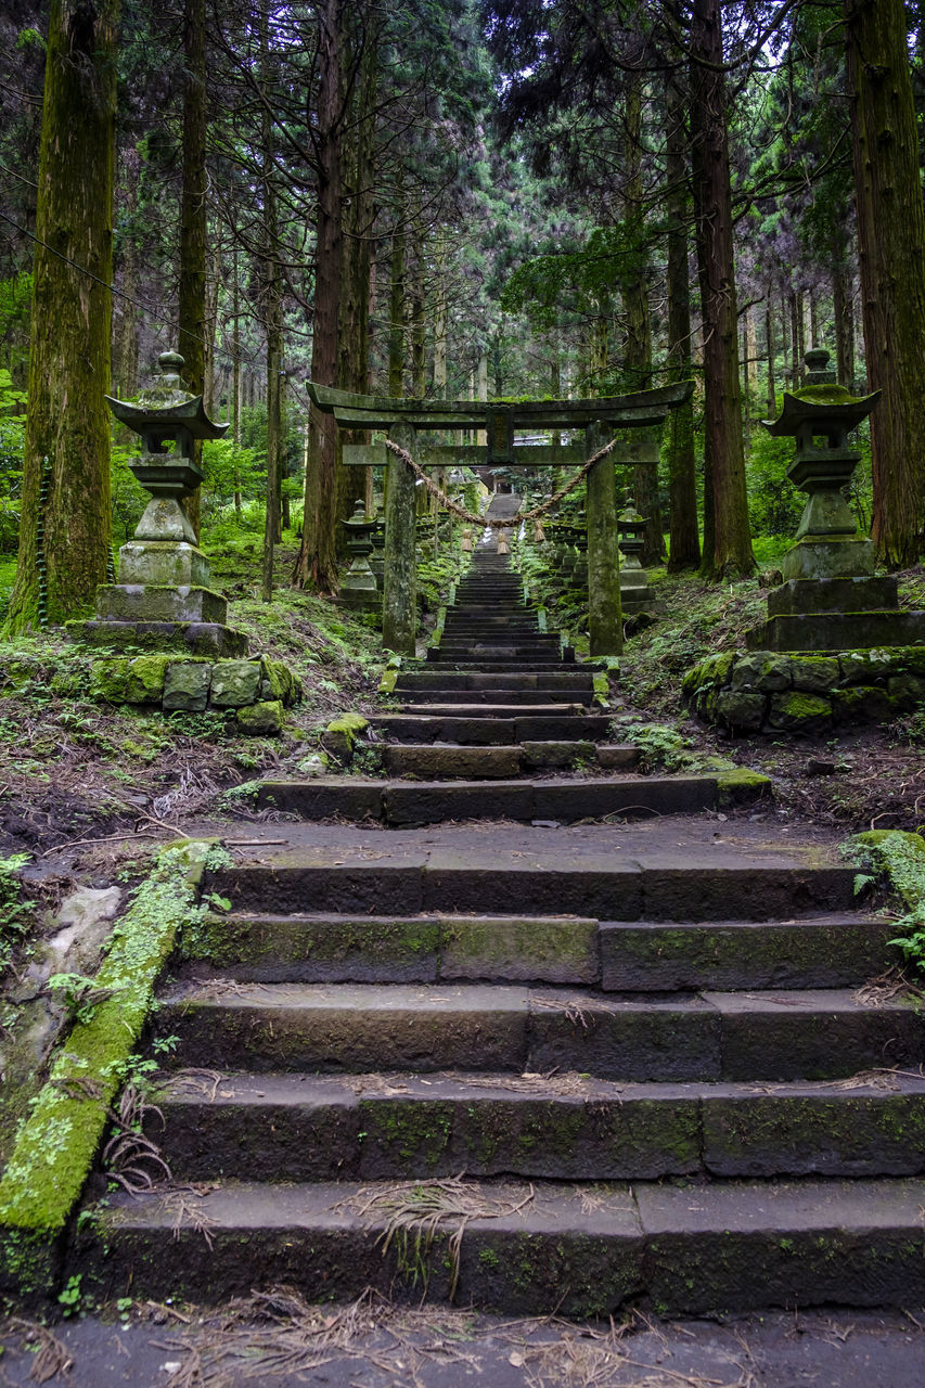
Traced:
<path fill-rule="evenodd" d="M 860 452 L 847 436 L 881 397 L 851 396 L 828 369 L 829 354 L 806 354 L 807 380 L 783 396 L 764 428 L 796 440 L 789 477 L 808 494 L 796 543 L 781 565 L 785 582 L 768 595 L 768 620 L 746 636 L 757 651 L 849 651 L 925 641 L 925 613 L 900 612 L 894 577 L 874 577 L 875 551 L 842 489 Z"/>

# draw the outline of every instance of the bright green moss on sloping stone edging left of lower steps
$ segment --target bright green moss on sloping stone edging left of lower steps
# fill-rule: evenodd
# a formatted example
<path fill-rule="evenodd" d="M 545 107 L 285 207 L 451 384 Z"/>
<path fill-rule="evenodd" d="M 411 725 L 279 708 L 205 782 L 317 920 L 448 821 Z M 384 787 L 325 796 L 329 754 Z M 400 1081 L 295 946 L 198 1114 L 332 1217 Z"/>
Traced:
<path fill-rule="evenodd" d="M 157 977 L 181 923 L 197 908 L 208 844 L 160 854 L 126 915 L 110 936 L 93 1015 L 71 1030 L 0 1181 L 0 1246 L 10 1289 L 36 1291 L 47 1251 L 64 1230 L 96 1158 L 107 1110 L 151 1006 Z M 22 1258 L 32 1248 L 35 1259 Z"/>

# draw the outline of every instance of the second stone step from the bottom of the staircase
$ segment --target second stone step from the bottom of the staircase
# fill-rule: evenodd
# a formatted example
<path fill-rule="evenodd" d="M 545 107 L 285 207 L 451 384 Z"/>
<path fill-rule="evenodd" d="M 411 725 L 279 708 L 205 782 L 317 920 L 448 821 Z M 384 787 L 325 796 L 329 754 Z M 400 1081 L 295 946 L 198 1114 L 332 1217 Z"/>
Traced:
<path fill-rule="evenodd" d="M 919 1176 L 925 1076 L 617 1084 L 560 1073 L 181 1072 L 149 1134 L 179 1181 Z"/>

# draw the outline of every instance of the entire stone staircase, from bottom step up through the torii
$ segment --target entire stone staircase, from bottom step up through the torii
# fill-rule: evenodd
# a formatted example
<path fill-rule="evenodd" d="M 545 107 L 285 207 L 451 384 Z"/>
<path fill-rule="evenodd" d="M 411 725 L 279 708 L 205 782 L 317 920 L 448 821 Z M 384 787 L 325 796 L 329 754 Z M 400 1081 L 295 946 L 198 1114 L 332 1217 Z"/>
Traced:
<path fill-rule="evenodd" d="M 515 597 L 485 564 L 456 620 Z M 818 845 L 746 820 L 725 841 L 692 779 L 656 783 L 664 818 L 640 823 L 518 823 L 551 812 L 543 784 L 576 797 L 557 819 L 585 818 L 607 777 L 536 780 L 479 823 L 501 816 L 472 813 L 475 791 L 494 806 L 531 784 L 531 744 L 608 745 L 590 673 L 517 620 L 464 625 L 458 647 L 447 623 L 375 720 L 394 754 L 489 754 L 443 784 L 399 756 L 408 820 L 431 827 L 324 826 L 294 795 L 306 822 L 267 833 L 285 847 L 211 874 L 231 911 L 188 931 L 156 1016 L 174 1184 L 81 1221 L 74 1269 L 101 1294 L 378 1287 L 574 1316 L 925 1294 L 925 1033 L 864 990 L 889 922 Z M 511 661 L 535 686 L 507 683 Z M 486 770 L 499 751 L 528 758 L 510 780 Z"/>

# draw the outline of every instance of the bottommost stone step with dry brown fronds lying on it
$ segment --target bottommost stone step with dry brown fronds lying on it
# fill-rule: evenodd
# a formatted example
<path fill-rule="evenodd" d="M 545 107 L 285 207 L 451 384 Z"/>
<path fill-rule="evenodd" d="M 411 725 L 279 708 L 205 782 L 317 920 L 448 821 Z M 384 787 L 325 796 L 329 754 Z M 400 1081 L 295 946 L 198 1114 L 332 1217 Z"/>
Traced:
<path fill-rule="evenodd" d="M 501 1180 L 222 1183 L 115 1192 L 85 1221 L 68 1271 L 107 1301 L 217 1303 L 286 1285 L 308 1301 L 372 1287 L 531 1316 L 608 1316 L 640 1298 L 661 1316 L 908 1306 L 925 1296 L 921 1205 L 921 1181 L 903 1177 L 590 1192 Z M 403 1237 L 415 1206 L 418 1237 L 415 1226 Z"/>

